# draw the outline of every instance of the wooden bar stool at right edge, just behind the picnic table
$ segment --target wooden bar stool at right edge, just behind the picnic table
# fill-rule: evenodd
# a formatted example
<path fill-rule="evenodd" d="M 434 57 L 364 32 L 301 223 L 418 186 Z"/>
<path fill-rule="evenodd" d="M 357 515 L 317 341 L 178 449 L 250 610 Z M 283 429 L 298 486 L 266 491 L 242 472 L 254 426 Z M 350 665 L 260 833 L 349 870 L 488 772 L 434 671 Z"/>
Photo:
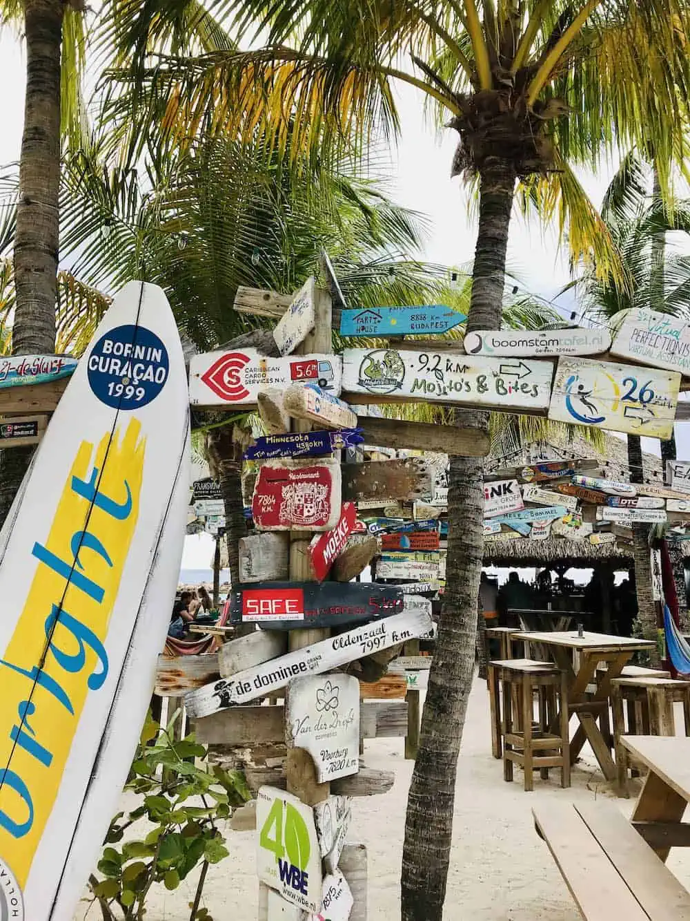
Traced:
<path fill-rule="evenodd" d="M 674 736 L 673 704 L 683 704 L 685 735 L 690 736 L 690 682 L 669 678 L 616 678 L 611 682 L 618 795 L 628 796 L 630 755 L 620 737 Z M 625 704 L 625 710 L 624 710 Z M 637 774 L 630 768 L 631 774 Z"/>

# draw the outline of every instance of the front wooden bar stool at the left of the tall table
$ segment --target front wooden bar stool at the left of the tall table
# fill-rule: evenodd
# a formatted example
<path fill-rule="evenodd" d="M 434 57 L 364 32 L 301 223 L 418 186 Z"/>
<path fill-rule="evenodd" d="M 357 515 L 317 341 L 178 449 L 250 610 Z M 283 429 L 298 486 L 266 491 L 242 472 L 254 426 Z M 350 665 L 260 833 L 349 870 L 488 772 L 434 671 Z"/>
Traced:
<path fill-rule="evenodd" d="M 560 786 L 570 786 L 570 752 L 568 732 L 568 677 L 565 671 L 535 659 L 500 659 L 489 663 L 491 696 L 498 702 L 502 689 L 503 706 L 503 778 L 512 780 L 512 765 L 524 771 L 524 789 L 533 789 L 533 771 L 548 777 L 548 769 L 560 768 Z M 520 701 L 520 712 L 513 713 L 513 691 Z M 534 702 L 537 692 L 537 720 Z M 560 732 L 549 732 L 558 707 Z M 492 707 L 492 737 L 501 736 L 498 706 Z"/>

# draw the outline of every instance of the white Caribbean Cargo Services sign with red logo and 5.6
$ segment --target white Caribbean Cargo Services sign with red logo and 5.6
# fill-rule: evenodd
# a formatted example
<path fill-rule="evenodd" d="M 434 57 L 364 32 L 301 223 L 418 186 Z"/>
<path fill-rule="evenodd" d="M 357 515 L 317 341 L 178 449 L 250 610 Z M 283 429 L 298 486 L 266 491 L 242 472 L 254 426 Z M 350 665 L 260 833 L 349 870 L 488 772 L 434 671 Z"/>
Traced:
<path fill-rule="evenodd" d="M 190 358 L 190 403 L 198 406 L 254 406 L 259 391 L 292 384 L 318 384 L 340 392 L 341 361 L 335 355 L 268 358 L 255 348 L 205 352 Z"/>

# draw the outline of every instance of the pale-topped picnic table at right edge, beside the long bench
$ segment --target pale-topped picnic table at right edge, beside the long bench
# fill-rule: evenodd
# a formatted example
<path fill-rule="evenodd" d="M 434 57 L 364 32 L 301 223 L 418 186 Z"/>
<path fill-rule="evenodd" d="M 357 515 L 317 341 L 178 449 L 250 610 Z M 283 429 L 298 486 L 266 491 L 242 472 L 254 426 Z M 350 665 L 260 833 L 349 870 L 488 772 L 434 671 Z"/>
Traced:
<path fill-rule="evenodd" d="M 665 861 L 672 847 L 690 847 L 690 822 L 681 822 L 690 802 L 690 739 L 622 736 L 621 742 L 650 772 L 631 822 Z"/>

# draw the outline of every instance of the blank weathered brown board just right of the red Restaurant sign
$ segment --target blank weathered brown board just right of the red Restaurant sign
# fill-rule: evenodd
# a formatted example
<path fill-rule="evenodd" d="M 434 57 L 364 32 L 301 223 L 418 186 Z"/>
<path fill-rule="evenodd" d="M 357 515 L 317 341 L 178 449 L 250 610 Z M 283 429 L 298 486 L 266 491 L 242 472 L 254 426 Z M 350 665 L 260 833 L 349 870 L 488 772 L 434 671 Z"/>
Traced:
<path fill-rule="evenodd" d="M 426 461 L 369 461 L 342 465 L 342 497 L 351 502 L 362 499 L 397 499 L 413 502 L 431 490 Z"/>

